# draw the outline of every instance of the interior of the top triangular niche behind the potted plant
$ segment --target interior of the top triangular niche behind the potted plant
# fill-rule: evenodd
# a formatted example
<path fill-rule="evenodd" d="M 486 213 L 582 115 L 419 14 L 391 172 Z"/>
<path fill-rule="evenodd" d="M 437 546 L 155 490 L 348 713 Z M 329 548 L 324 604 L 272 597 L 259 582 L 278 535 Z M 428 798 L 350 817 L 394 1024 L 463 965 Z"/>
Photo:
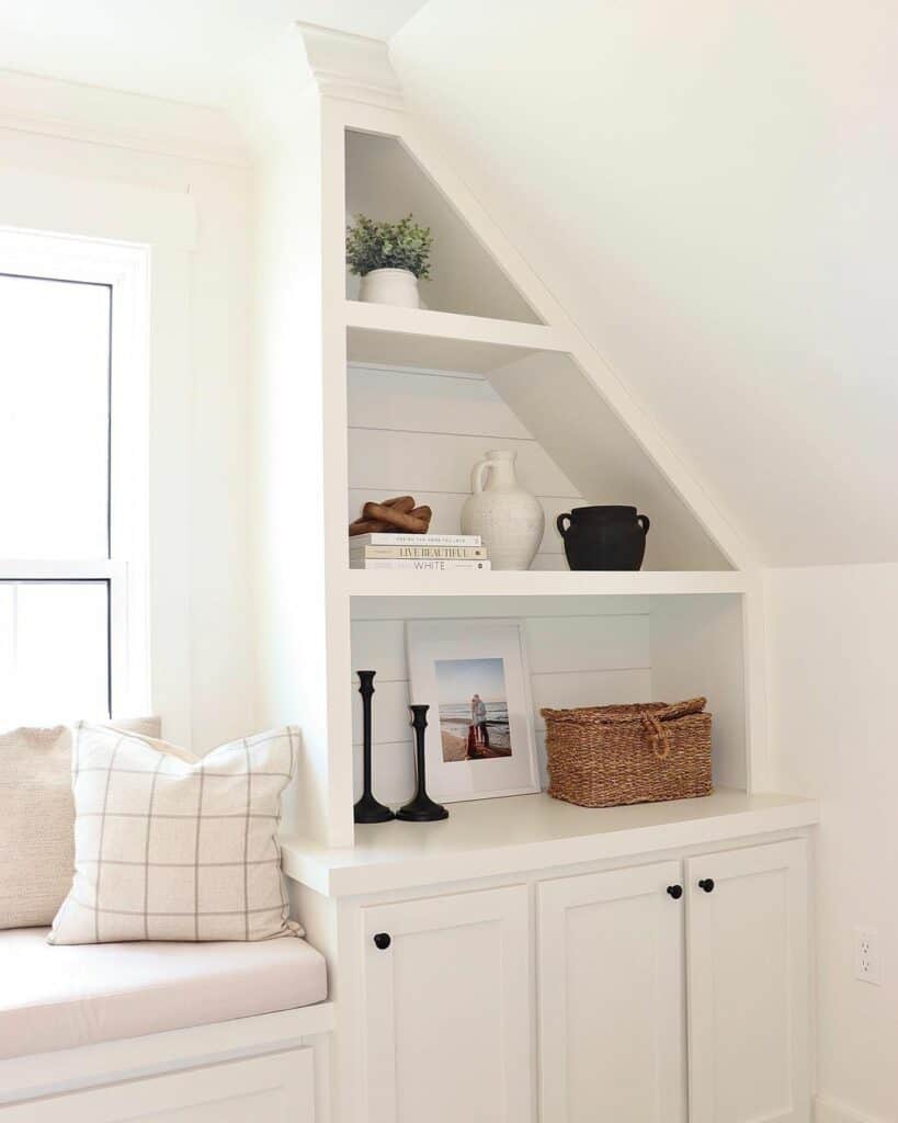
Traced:
<path fill-rule="evenodd" d="M 497 320 L 542 320 L 493 256 L 396 137 L 346 134 L 346 220 L 356 214 L 395 222 L 412 213 L 433 231 L 431 279 L 420 283 L 424 307 Z M 357 299 L 359 279 L 347 270 L 346 294 Z"/>

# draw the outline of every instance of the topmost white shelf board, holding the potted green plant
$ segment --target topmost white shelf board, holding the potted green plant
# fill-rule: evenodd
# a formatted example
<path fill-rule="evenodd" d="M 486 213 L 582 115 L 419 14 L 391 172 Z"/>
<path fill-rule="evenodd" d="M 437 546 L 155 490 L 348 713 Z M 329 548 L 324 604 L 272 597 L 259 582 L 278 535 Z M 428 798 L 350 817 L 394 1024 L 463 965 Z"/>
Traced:
<path fill-rule="evenodd" d="M 542 323 L 355 300 L 343 307 L 352 363 L 485 373 L 534 351 L 570 349 L 560 332 Z"/>

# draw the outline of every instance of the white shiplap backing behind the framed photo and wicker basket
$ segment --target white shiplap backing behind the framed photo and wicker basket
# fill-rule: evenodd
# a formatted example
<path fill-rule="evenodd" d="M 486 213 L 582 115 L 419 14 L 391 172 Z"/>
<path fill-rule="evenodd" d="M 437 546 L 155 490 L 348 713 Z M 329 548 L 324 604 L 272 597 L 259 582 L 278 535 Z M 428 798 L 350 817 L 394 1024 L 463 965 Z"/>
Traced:
<path fill-rule="evenodd" d="M 512 606 L 508 605 L 508 609 Z M 456 605 L 461 610 L 460 605 Z M 608 604 L 605 614 L 524 615 L 540 772 L 546 784 L 546 724 L 542 706 L 605 705 L 651 699 L 651 643 L 648 610 L 631 603 Z M 412 610 L 413 611 L 413 610 Z M 557 610 L 556 610 L 557 611 Z M 352 666 L 377 672 L 373 700 L 374 783 L 379 800 L 400 804 L 414 789 L 412 737 L 409 728 L 409 669 L 405 619 L 388 617 L 388 606 L 354 609 Z M 464 615 L 464 611 L 457 611 Z M 422 617 L 428 613 L 423 612 Z M 349 685 L 356 797 L 361 789 L 361 699 L 358 678 Z"/>

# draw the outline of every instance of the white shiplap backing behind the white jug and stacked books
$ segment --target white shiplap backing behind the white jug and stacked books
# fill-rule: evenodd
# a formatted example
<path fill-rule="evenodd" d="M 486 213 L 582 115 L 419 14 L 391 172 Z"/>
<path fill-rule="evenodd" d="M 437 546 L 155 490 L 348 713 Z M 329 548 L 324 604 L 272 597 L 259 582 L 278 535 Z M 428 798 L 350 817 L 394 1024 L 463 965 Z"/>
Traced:
<path fill-rule="evenodd" d="M 433 510 L 434 533 L 458 533 L 470 469 L 493 448 L 517 453 L 517 478 L 546 511 L 534 569 L 566 569 L 556 529 L 585 501 L 479 375 L 348 368 L 350 520 L 367 500 L 414 495 Z"/>

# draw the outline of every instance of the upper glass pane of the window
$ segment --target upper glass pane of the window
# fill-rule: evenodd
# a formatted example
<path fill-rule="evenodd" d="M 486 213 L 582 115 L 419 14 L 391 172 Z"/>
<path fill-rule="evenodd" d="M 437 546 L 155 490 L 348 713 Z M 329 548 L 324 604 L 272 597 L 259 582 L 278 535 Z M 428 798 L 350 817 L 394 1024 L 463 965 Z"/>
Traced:
<path fill-rule="evenodd" d="M 107 557 L 108 285 L 0 274 L 0 557 Z"/>

